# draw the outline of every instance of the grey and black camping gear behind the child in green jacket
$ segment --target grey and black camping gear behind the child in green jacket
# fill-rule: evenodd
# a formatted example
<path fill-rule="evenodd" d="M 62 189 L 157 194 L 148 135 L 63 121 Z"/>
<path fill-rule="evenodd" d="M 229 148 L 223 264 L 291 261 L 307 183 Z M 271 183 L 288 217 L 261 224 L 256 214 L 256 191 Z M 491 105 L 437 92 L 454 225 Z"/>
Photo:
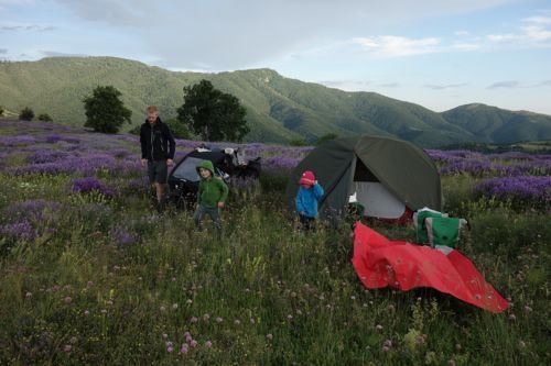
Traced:
<path fill-rule="evenodd" d="M 215 175 L 227 185 L 235 179 L 258 179 L 260 176 L 260 157 L 247 160 L 239 149 L 197 147 L 184 156 L 169 175 L 169 197 L 176 207 L 193 209 L 201 180 L 196 167 L 204 160 L 213 163 Z"/>

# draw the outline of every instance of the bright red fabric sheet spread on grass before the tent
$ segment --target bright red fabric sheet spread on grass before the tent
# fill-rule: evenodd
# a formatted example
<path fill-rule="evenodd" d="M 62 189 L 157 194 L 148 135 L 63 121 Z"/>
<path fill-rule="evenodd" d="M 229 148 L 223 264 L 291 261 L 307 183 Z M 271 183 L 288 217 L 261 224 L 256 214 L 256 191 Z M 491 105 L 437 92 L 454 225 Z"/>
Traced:
<path fill-rule="evenodd" d="M 392 286 L 407 291 L 432 287 L 491 312 L 501 312 L 509 306 L 473 263 L 455 249 L 446 254 L 428 246 L 389 241 L 359 222 L 354 233 L 352 263 L 367 288 Z"/>

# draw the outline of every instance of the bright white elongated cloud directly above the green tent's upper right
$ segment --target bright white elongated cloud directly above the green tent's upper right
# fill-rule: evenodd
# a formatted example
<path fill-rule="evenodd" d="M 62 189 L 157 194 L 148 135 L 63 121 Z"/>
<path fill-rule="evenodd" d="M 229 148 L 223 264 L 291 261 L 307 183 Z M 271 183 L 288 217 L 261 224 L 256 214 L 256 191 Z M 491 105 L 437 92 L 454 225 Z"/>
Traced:
<path fill-rule="evenodd" d="M 380 35 L 356 37 L 353 42 L 378 56 L 401 57 L 436 52 L 441 40 L 436 37 L 413 40 L 404 36 Z"/>

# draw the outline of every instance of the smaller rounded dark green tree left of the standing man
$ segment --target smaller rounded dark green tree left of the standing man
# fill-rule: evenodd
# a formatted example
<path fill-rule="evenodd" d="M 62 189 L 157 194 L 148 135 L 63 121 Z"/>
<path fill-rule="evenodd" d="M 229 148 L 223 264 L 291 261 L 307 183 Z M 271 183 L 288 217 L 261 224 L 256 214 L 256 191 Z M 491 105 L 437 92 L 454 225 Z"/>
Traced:
<path fill-rule="evenodd" d="M 112 86 L 97 87 L 93 95 L 86 97 L 86 127 L 96 132 L 117 133 L 125 121 L 131 122 L 132 111 L 127 109 L 119 99 L 120 91 Z"/>

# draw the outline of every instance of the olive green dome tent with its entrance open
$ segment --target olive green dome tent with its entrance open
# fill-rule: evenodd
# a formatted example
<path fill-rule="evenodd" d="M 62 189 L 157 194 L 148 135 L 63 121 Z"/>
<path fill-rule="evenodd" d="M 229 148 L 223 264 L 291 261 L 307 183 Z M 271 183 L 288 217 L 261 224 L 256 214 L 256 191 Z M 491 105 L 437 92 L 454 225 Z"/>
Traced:
<path fill-rule="evenodd" d="M 320 202 L 322 219 L 342 217 L 350 196 L 364 208 L 364 215 L 385 220 L 410 219 L 411 212 L 428 207 L 442 210 L 440 175 L 420 147 L 387 137 L 346 137 L 314 148 L 293 169 L 285 203 L 294 209 L 298 181 L 312 170 L 325 189 Z"/>

